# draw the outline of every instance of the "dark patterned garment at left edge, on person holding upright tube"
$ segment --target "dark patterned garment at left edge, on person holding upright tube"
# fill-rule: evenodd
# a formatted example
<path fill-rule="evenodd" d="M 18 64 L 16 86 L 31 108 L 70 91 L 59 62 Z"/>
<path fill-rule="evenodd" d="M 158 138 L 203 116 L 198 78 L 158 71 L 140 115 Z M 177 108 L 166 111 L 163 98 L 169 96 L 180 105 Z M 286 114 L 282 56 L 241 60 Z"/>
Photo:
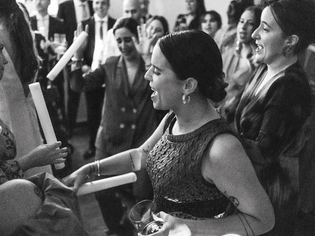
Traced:
<path fill-rule="evenodd" d="M 0 184 L 14 179 L 23 178 L 16 156 L 15 140 L 12 132 L 0 119 Z"/>

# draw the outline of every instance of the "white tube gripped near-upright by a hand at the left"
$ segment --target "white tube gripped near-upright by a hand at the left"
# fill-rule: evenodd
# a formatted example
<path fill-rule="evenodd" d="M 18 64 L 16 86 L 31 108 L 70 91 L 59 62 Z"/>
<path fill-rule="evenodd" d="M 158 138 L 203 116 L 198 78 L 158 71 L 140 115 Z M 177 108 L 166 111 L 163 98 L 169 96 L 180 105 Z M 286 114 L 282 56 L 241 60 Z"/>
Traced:
<path fill-rule="evenodd" d="M 44 100 L 43 93 L 41 91 L 40 85 L 38 82 L 29 85 L 32 98 L 35 104 L 37 115 L 43 129 L 45 139 L 48 145 L 54 144 L 57 142 L 55 131 L 51 123 L 46 103 Z M 55 164 L 57 170 L 63 169 L 64 163 Z"/>

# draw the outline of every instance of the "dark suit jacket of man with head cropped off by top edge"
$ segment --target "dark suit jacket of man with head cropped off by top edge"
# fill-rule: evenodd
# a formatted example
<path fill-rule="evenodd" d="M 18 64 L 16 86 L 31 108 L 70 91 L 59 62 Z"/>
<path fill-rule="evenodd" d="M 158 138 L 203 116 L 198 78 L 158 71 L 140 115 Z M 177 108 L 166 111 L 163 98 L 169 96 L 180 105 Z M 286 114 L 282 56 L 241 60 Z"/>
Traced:
<path fill-rule="evenodd" d="M 93 15 L 93 2 L 88 0 L 90 13 Z M 70 46 L 73 42 L 73 32 L 77 29 L 77 21 L 75 17 L 75 9 L 73 0 L 66 0 L 59 4 L 57 17 L 63 19 L 65 35 Z"/>

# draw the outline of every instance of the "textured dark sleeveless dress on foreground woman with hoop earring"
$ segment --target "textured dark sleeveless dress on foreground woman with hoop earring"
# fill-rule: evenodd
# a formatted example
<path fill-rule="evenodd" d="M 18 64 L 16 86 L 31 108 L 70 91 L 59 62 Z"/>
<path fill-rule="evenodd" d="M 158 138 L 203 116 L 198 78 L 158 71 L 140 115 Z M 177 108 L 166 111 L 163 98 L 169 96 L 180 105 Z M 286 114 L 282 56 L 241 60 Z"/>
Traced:
<path fill-rule="evenodd" d="M 229 200 L 215 184 L 202 177 L 202 154 L 216 135 L 233 132 L 225 119 L 220 118 L 191 133 L 172 135 L 175 121 L 175 114 L 170 112 L 164 134 L 146 163 L 156 211 L 187 219 L 212 218 L 225 211 Z"/>

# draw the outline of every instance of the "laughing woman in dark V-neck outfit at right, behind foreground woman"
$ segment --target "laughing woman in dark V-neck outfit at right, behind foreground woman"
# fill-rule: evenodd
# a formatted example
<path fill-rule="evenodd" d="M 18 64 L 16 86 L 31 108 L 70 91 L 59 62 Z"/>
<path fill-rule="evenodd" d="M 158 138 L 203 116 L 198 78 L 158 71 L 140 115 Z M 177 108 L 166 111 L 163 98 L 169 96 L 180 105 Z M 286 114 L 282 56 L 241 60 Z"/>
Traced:
<path fill-rule="evenodd" d="M 312 110 L 308 80 L 297 54 L 315 39 L 315 5 L 280 0 L 265 7 L 253 32 L 262 64 L 247 84 L 235 114 L 261 183 L 276 214 L 274 235 L 294 234 L 303 125 Z"/>

